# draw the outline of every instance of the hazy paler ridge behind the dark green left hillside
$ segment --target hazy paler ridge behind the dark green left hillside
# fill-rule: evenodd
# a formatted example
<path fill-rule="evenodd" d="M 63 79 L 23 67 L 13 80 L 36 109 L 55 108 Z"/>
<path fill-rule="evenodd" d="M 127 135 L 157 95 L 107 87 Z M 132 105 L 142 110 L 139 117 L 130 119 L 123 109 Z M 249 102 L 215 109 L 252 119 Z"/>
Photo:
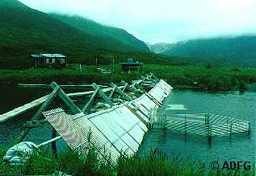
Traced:
<path fill-rule="evenodd" d="M 127 45 L 134 48 L 134 50 L 149 51 L 148 47 L 141 40 L 136 39 L 133 35 L 129 34 L 124 29 L 116 27 L 107 27 L 96 23 L 90 19 L 82 18 L 79 16 L 69 16 L 64 14 L 50 14 L 52 17 L 61 20 L 78 30 L 85 32 L 89 35 L 97 36 L 101 39 L 115 41 L 117 45 Z"/>

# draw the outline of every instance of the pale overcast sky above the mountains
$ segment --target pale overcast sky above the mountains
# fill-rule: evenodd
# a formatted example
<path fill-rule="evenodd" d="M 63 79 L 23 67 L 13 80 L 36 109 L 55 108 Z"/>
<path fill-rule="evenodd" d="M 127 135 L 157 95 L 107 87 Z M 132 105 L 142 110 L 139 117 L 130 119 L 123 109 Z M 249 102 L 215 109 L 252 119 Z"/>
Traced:
<path fill-rule="evenodd" d="M 149 43 L 256 34 L 256 0 L 19 0 L 33 9 L 78 14 Z"/>

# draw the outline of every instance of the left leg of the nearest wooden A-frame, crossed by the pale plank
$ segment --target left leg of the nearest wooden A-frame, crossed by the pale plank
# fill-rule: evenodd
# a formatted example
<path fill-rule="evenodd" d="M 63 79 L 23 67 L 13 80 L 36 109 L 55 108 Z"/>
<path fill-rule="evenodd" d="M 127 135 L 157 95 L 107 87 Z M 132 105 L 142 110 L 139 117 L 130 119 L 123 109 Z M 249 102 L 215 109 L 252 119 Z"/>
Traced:
<path fill-rule="evenodd" d="M 38 120 L 41 113 L 44 112 L 44 110 L 48 107 L 48 105 L 52 103 L 52 100 L 54 99 L 54 97 L 57 96 L 57 92 L 59 92 L 59 90 L 60 90 L 60 86 L 57 85 L 56 88 L 54 88 L 54 90 L 52 91 L 52 93 L 49 94 L 47 100 L 44 101 L 44 104 L 40 107 L 40 109 L 36 112 L 36 114 L 31 118 L 31 121 Z M 23 132 L 20 134 L 19 138 L 17 139 L 18 143 L 20 141 L 23 141 L 23 138 L 27 135 L 29 130 L 30 130 L 30 128 L 25 128 L 23 130 Z"/>

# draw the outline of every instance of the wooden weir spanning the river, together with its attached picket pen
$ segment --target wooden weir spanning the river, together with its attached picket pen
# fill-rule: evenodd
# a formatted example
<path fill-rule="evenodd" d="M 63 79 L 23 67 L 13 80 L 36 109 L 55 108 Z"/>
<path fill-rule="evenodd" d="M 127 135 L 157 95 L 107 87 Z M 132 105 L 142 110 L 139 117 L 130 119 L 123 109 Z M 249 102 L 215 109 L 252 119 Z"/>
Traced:
<path fill-rule="evenodd" d="M 132 81 L 131 85 L 124 80 L 120 85 L 111 83 L 109 88 L 91 84 L 94 90 L 88 92 L 66 94 L 55 82 L 50 87 L 53 90 L 47 96 L 0 115 L 1 123 L 40 106 L 27 122 L 27 128 L 18 137 L 18 142 L 23 141 L 33 125 L 49 122 L 52 125 L 52 140 L 44 142 L 43 145 L 52 143 L 52 150 L 56 151 L 55 141 L 62 138 L 73 150 L 86 152 L 88 148 L 94 147 L 99 151 L 99 158 L 111 156 L 115 162 L 124 153 L 136 153 L 144 134 L 152 126 L 185 133 L 185 137 L 188 133 L 209 138 L 223 135 L 231 137 L 231 133 L 250 130 L 248 121 L 213 114 L 176 114 L 166 117 L 166 108 L 163 107 L 165 115 L 159 115 L 157 111 L 172 87 L 166 81 L 158 80 L 152 73 L 142 76 L 141 80 Z M 90 98 L 79 108 L 71 99 L 76 96 Z M 67 112 L 64 108 L 49 109 L 56 97 L 71 111 Z M 179 105 L 178 108 L 183 106 Z"/>

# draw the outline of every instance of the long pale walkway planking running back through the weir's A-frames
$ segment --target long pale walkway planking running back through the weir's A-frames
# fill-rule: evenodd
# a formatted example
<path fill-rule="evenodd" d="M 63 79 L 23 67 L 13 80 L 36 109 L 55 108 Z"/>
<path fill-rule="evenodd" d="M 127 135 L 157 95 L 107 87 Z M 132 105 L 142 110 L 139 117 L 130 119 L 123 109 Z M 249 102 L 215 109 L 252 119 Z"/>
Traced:
<path fill-rule="evenodd" d="M 124 88 L 124 86 L 120 86 L 119 88 Z M 103 92 L 110 92 L 112 90 L 112 88 L 103 88 L 102 91 Z M 73 97 L 73 96 L 90 96 L 91 94 L 93 94 L 94 91 L 88 91 L 88 92 L 75 92 L 75 93 L 68 93 L 67 96 L 69 97 Z M 22 106 L 15 108 L 7 113 L 3 113 L 2 115 L 0 115 L 0 123 L 4 122 L 4 121 L 8 121 L 11 118 L 17 117 L 22 113 L 25 113 L 29 110 L 31 110 L 32 108 L 36 108 L 38 107 L 40 104 L 44 103 L 45 100 L 47 100 L 49 94 L 43 97 L 40 97 L 39 99 L 33 100 L 30 103 L 27 104 L 23 104 Z"/>

